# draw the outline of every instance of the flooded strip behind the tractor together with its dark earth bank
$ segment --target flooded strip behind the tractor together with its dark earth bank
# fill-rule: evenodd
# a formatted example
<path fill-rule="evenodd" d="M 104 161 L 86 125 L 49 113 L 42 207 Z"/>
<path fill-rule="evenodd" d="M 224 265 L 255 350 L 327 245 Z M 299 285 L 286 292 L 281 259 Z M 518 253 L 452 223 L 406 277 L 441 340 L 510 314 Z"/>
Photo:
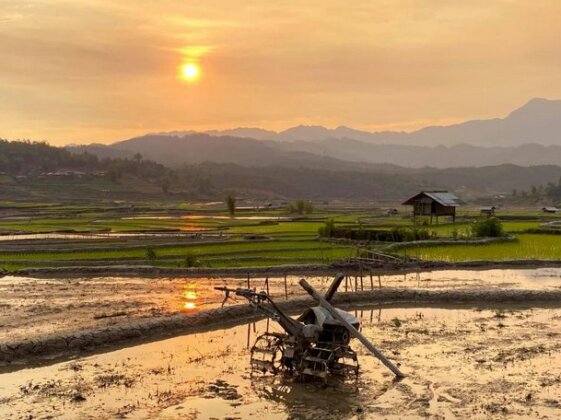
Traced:
<path fill-rule="evenodd" d="M 366 289 L 370 286 L 372 290 L 364 290 L 364 282 L 349 278 L 334 302 L 555 306 L 561 303 L 560 278 L 561 270 L 553 268 L 426 272 L 373 278 L 366 284 Z M 250 287 L 265 289 L 263 280 L 253 279 Z M 283 278 L 268 282 L 271 295 L 289 311 L 311 303 L 297 281 L 296 276 L 287 278 L 286 289 Z M 331 278 L 312 277 L 309 281 L 321 291 Z M 6 278 L 0 282 L 0 369 L 218 327 L 231 320 L 255 319 L 247 305 L 230 306 L 235 302 L 228 302 L 224 309 L 219 308 L 223 296 L 213 288 L 224 284 L 247 287 L 246 280 L 233 278 Z"/>

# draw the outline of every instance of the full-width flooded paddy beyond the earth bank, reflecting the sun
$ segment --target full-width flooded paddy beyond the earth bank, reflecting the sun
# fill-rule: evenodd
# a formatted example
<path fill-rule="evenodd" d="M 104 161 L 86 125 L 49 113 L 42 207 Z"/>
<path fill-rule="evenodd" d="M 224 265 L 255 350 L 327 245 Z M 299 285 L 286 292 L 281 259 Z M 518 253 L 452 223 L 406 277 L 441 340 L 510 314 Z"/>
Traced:
<path fill-rule="evenodd" d="M 299 276 L 268 278 L 270 294 L 278 299 L 305 296 Z M 325 290 L 332 277 L 307 280 Z M 0 278 L 0 340 L 14 341 L 46 334 L 71 332 L 135 320 L 195 313 L 219 307 L 223 295 L 216 286 L 247 287 L 244 278 Z M 559 290 L 561 269 L 446 270 L 395 275 L 349 277 L 339 291 L 387 288 L 422 290 L 533 289 Z M 265 277 L 251 278 L 250 287 L 266 290 Z M 228 304 L 236 303 L 229 301 Z M 238 302 L 244 303 L 244 302 Z"/>

